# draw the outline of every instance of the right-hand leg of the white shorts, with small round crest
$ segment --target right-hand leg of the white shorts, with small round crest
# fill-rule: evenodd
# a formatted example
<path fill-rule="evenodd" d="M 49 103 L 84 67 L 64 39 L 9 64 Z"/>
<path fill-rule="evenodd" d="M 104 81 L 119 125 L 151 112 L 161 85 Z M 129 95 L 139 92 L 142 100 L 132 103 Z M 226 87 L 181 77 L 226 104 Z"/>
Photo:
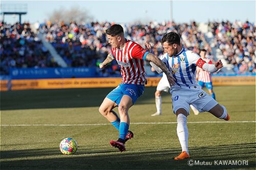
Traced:
<path fill-rule="evenodd" d="M 212 99 L 209 94 L 207 94 L 204 90 L 199 91 L 193 96 L 190 96 L 190 99 L 193 101 L 191 105 L 196 107 L 199 112 L 209 111 L 211 108 L 215 107 L 218 102 Z"/>

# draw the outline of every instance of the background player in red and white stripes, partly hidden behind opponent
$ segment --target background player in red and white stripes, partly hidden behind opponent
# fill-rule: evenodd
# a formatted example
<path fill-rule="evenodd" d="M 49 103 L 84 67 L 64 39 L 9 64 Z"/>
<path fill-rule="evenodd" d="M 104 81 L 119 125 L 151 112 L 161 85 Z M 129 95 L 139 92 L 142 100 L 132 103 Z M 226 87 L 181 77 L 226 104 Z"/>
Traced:
<path fill-rule="evenodd" d="M 200 57 L 202 60 L 206 61 L 206 63 L 212 64 L 212 61 L 208 58 L 206 58 L 206 50 L 200 51 Z M 212 87 L 212 79 L 211 79 L 211 73 L 209 71 L 206 71 L 200 67 L 197 67 L 197 75 L 198 84 L 203 88 L 204 85 L 208 89 L 209 93 L 211 94 L 211 97 L 215 100 L 215 93 Z"/>

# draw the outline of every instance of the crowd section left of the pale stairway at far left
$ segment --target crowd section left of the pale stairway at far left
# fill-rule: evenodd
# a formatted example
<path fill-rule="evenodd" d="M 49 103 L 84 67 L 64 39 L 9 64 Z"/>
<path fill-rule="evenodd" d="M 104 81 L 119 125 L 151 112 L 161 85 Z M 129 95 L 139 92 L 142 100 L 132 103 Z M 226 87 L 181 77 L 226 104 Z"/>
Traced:
<path fill-rule="evenodd" d="M 0 23 L 1 75 L 9 73 L 9 67 L 58 67 L 47 48 L 31 31 L 30 23 L 14 25 Z"/>

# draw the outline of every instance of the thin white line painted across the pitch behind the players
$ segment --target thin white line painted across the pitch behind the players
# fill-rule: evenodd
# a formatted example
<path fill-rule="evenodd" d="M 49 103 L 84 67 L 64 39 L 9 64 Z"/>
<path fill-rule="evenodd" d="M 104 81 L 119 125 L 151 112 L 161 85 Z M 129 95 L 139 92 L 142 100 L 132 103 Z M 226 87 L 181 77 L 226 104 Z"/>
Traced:
<path fill-rule="evenodd" d="M 188 122 L 188 124 L 209 124 L 209 123 L 256 123 L 256 121 L 206 121 L 206 122 Z M 159 125 L 159 124 L 177 124 L 177 122 L 140 122 L 140 123 L 131 123 L 134 125 Z M 21 124 L 21 125 L 1 125 L 1 126 L 103 126 L 103 125 L 111 125 L 111 124 Z"/>

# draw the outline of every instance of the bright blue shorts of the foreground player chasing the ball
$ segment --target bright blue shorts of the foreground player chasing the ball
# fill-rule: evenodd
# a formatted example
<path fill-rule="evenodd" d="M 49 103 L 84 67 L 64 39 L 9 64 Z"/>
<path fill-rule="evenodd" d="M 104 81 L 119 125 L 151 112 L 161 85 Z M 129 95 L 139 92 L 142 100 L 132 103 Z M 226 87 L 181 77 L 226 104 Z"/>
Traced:
<path fill-rule="evenodd" d="M 132 100 L 133 104 L 137 101 L 139 96 L 143 94 L 144 85 L 137 85 L 137 84 L 119 84 L 114 90 L 112 90 L 106 98 L 112 100 L 117 105 L 119 105 L 123 95 L 129 95 Z"/>

